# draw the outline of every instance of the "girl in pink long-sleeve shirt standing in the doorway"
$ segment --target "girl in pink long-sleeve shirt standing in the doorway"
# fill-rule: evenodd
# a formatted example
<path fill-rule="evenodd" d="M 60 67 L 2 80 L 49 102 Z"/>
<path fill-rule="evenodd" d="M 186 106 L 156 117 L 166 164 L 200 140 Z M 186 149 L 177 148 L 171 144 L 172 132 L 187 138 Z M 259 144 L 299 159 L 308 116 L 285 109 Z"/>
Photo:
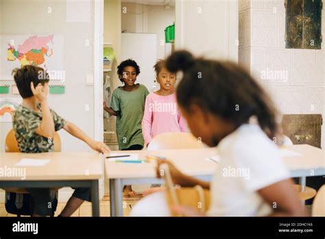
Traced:
<path fill-rule="evenodd" d="M 163 60 L 158 60 L 154 65 L 160 89 L 149 93 L 145 100 L 142 131 L 146 146 L 160 133 L 188 131 L 176 102 L 176 75 L 167 71 L 164 63 Z"/>

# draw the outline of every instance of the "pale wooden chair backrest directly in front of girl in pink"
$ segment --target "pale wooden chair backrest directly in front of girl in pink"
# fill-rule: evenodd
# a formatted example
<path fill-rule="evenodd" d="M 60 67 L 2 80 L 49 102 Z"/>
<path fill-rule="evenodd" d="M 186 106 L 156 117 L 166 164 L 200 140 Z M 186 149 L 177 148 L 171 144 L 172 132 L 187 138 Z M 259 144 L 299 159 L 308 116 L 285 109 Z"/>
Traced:
<path fill-rule="evenodd" d="M 204 148 L 191 133 L 162 133 L 150 141 L 147 150 Z"/>

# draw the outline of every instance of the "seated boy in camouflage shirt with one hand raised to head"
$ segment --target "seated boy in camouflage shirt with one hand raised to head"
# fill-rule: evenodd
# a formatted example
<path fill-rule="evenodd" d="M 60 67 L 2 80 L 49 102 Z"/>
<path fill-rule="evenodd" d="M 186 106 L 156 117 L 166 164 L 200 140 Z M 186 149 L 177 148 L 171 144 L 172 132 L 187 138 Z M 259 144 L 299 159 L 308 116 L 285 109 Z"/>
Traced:
<path fill-rule="evenodd" d="M 65 121 L 47 104 L 49 92 L 49 76 L 40 67 L 25 65 L 12 71 L 14 81 L 21 97 L 22 104 L 16 109 L 12 126 L 21 152 L 51 152 L 53 151 L 53 135 L 64 128 L 68 133 L 86 142 L 98 152 L 109 152 L 106 144 L 88 137 L 80 128 Z M 47 216 L 51 202 L 50 188 L 27 188 L 34 199 L 33 216 Z M 90 190 L 86 187 L 75 188 L 75 192 L 64 207 L 60 216 L 71 216 L 75 210 L 86 201 L 90 201 Z"/>

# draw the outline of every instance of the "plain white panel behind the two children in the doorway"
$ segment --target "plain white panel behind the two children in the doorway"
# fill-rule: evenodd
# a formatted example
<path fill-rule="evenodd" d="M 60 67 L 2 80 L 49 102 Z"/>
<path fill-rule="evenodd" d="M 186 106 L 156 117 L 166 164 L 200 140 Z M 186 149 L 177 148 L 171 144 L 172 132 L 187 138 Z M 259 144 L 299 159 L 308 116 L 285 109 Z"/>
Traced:
<path fill-rule="evenodd" d="M 157 36 L 146 33 L 122 33 L 121 60 L 132 58 L 140 67 L 141 73 L 136 82 L 144 84 L 148 91 L 156 91 L 158 84 L 154 65 L 157 61 Z"/>

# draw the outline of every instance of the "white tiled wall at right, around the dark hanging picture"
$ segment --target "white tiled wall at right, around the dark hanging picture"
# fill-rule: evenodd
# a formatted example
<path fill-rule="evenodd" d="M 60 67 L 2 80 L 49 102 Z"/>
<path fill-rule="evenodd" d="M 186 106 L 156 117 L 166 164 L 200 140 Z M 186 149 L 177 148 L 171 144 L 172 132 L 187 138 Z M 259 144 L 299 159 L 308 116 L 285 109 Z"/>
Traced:
<path fill-rule="evenodd" d="M 322 49 L 285 49 L 284 0 L 239 2 L 239 62 L 269 90 L 284 114 L 325 113 L 325 43 Z M 325 11 L 322 10 L 322 35 Z M 263 77 L 263 72 L 287 78 Z M 322 148 L 325 127 L 322 127 Z"/>

